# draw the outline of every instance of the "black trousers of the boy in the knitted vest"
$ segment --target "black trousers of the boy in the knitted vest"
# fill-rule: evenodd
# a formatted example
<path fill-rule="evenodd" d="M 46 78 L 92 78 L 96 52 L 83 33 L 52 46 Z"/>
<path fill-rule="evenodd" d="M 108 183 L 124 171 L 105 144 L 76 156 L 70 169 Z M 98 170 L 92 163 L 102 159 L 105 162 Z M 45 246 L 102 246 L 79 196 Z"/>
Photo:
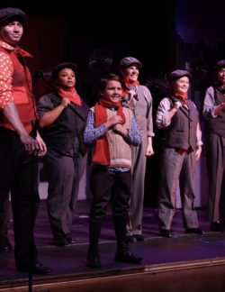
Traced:
<path fill-rule="evenodd" d="M 112 202 L 113 225 L 117 246 L 125 241 L 130 200 L 130 171 L 111 171 L 95 164 L 91 169 L 93 203 L 89 216 L 89 253 L 98 253 L 98 240 L 107 206 Z"/>

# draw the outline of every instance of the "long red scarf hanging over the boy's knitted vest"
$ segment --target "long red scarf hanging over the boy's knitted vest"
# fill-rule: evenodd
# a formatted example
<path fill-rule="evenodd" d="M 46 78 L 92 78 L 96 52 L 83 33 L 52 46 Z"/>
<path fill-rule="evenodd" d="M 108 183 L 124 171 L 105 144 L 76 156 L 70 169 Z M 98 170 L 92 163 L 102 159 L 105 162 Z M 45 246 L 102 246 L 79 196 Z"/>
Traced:
<path fill-rule="evenodd" d="M 94 105 L 94 127 L 98 127 L 102 123 L 107 122 L 106 108 L 112 107 L 117 109 L 117 115 L 121 115 L 122 123 L 126 122 L 125 115 L 122 112 L 121 102 L 112 103 L 110 100 L 100 99 L 100 101 Z M 106 134 L 98 138 L 96 141 L 93 162 L 100 163 L 102 165 L 110 165 L 109 143 Z"/>

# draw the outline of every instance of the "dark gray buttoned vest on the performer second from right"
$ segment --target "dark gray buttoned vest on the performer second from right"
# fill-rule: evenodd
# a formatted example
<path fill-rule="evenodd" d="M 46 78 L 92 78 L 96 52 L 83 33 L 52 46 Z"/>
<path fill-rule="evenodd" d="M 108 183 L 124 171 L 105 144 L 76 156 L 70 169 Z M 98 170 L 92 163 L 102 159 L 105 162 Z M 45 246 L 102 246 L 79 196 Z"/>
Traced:
<path fill-rule="evenodd" d="M 163 143 L 169 148 L 194 151 L 197 147 L 198 121 L 198 111 L 193 102 L 188 100 L 188 108 L 182 106 L 164 130 Z"/>

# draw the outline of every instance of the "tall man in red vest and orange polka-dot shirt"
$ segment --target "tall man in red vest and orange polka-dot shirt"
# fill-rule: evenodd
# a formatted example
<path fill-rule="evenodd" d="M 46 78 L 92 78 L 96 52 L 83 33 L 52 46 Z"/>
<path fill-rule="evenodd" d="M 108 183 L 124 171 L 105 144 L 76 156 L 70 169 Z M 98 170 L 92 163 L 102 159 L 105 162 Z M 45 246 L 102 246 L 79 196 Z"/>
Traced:
<path fill-rule="evenodd" d="M 4 201 L 11 192 L 16 269 L 49 274 L 33 240 L 40 202 L 37 156 L 45 155 L 47 148 L 36 131 L 31 74 L 24 61 L 31 54 L 18 46 L 25 20 L 21 9 L 0 10 L 0 196 Z"/>

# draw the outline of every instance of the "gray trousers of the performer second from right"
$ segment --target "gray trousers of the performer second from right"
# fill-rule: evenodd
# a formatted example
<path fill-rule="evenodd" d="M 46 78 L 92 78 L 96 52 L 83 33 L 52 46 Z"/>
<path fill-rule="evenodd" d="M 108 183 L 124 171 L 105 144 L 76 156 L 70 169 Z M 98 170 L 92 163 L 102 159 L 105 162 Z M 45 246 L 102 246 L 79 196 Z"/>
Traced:
<path fill-rule="evenodd" d="M 159 229 L 169 230 L 175 214 L 176 190 L 179 185 L 184 219 L 184 228 L 198 227 L 194 210 L 193 177 L 195 169 L 195 151 L 179 154 L 173 148 L 163 148 L 161 154 L 158 218 Z"/>

